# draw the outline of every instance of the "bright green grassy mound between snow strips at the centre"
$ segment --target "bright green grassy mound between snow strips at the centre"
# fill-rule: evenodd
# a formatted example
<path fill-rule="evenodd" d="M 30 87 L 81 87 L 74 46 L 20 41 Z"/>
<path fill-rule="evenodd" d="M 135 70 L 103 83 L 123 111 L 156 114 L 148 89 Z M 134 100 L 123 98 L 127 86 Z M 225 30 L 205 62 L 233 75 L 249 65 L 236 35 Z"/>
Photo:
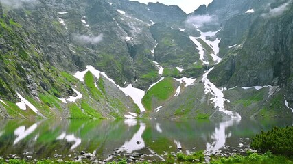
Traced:
<path fill-rule="evenodd" d="M 172 77 L 166 77 L 146 92 L 141 100 L 143 106 L 148 111 L 151 111 L 154 100 L 159 102 L 168 100 L 174 94 L 174 90 L 174 79 Z"/>

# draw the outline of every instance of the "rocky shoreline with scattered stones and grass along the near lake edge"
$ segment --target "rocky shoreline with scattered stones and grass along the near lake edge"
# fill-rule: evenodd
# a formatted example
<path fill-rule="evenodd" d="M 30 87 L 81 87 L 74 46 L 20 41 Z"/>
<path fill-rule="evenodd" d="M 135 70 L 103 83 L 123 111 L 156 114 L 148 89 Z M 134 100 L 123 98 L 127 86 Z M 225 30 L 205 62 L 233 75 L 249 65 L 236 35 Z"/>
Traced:
<path fill-rule="evenodd" d="M 204 151 L 204 156 L 206 161 L 209 161 L 209 159 L 212 156 L 220 156 L 220 157 L 228 157 L 233 156 L 236 154 L 242 154 L 245 155 L 246 152 L 256 152 L 256 150 L 253 150 L 250 148 L 250 139 L 245 138 L 239 139 L 238 146 L 232 147 L 225 145 L 220 150 L 216 150 L 213 153 Z M 150 148 L 147 148 L 150 150 Z M 47 157 L 46 159 L 34 159 L 34 153 L 32 152 L 25 152 L 23 153 L 23 158 L 20 156 L 17 156 L 16 154 L 10 154 L 9 156 L 6 156 L 5 159 L 6 162 L 9 162 L 10 159 L 19 159 L 24 160 L 28 163 L 36 163 L 38 161 L 54 161 L 57 163 L 68 163 L 68 162 L 82 162 L 82 163 L 108 163 L 108 162 L 119 162 L 119 161 L 126 161 L 127 163 L 153 163 L 153 162 L 164 162 L 168 156 L 174 156 L 176 158 L 176 155 L 178 153 L 182 153 L 182 148 L 178 148 L 178 152 L 164 152 L 163 154 L 157 154 L 156 152 L 153 152 L 150 150 L 151 154 L 144 154 L 144 153 L 138 153 L 138 152 L 132 152 L 127 153 L 124 150 L 115 149 L 113 150 L 112 154 L 109 154 L 106 156 L 106 158 L 102 158 L 101 156 L 94 153 L 81 151 L 81 152 L 75 152 L 73 155 L 69 154 L 67 156 L 60 155 L 60 154 L 53 154 L 51 157 Z M 187 152 L 186 154 L 192 154 L 193 152 Z"/>

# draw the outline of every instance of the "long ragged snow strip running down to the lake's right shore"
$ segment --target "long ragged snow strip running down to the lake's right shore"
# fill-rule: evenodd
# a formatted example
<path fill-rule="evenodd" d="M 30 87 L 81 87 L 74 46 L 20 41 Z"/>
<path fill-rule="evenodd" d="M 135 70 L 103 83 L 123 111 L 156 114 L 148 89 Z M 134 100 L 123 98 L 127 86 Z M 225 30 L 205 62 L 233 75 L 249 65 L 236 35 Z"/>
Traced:
<path fill-rule="evenodd" d="M 211 81 L 209 81 L 209 79 L 207 79 L 207 75 L 209 74 L 209 72 L 211 72 L 211 70 L 213 70 L 213 68 L 209 69 L 202 76 L 202 83 L 204 83 L 204 93 L 210 93 L 213 96 L 211 100 L 213 100 L 212 103 L 215 103 L 215 109 L 218 108 L 219 111 L 225 113 L 226 115 L 229 115 L 231 118 L 241 118 L 241 116 L 238 113 L 233 113 L 232 111 L 228 111 L 225 109 L 224 102 L 229 101 L 226 98 L 224 98 L 224 93 L 222 92 L 222 90 L 218 89 L 213 83 L 211 83 Z"/>

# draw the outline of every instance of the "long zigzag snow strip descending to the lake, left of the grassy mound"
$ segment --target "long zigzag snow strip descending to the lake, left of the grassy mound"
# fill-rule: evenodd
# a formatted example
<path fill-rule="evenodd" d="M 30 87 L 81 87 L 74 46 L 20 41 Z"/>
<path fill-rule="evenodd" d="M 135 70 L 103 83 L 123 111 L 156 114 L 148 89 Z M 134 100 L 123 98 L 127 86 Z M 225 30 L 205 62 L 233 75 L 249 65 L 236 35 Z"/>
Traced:
<path fill-rule="evenodd" d="M 93 76 L 95 76 L 97 79 L 99 79 L 100 74 L 102 74 L 106 79 L 108 79 L 108 81 L 116 85 L 119 88 L 119 90 L 124 92 L 126 96 L 130 96 L 130 98 L 132 98 L 134 103 L 137 104 L 137 106 L 141 110 L 141 113 L 145 112 L 145 108 L 143 107 L 143 104 L 141 103 L 141 99 L 143 99 L 143 96 L 145 95 L 145 92 L 143 90 L 132 87 L 132 84 L 129 84 L 127 87 L 120 87 L 119 85 L 115 83 L 115 81 L 113 81 L 113 79 L 110 79 L 110 77 L 108 77 L 105 72 L 96 70 L 93 66 L 86 66 L 86 70 L 82 72 L 78 71 L 73 76 L 79 79 L 80 81 L 84 81 L 84 75 L 88 71 L 90 71 L 93 74 Z M 126 118 L 130 118 L 128 116 L 129 115 L 126 115 Z"/>

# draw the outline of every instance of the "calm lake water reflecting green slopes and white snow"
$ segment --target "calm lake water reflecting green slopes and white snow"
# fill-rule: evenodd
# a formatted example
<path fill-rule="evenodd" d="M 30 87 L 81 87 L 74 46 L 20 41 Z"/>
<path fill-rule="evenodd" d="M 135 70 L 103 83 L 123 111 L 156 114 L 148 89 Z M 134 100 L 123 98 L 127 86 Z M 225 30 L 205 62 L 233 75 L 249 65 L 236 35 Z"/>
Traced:
<path fill-rule="evenodd" d="M 100 158 L 114 150 L 163 154 L 196 150 L 215 152 L 237 146 L 274 126 L 292 126 L 292 119 L 270 120 L 0 120 L 0 156 L 31 152 L 43 159 L 80 151 Z M 249 140 L 247 140 L 249 142 Z M 178 150 L 182 148 L 182 150 Z"/>

